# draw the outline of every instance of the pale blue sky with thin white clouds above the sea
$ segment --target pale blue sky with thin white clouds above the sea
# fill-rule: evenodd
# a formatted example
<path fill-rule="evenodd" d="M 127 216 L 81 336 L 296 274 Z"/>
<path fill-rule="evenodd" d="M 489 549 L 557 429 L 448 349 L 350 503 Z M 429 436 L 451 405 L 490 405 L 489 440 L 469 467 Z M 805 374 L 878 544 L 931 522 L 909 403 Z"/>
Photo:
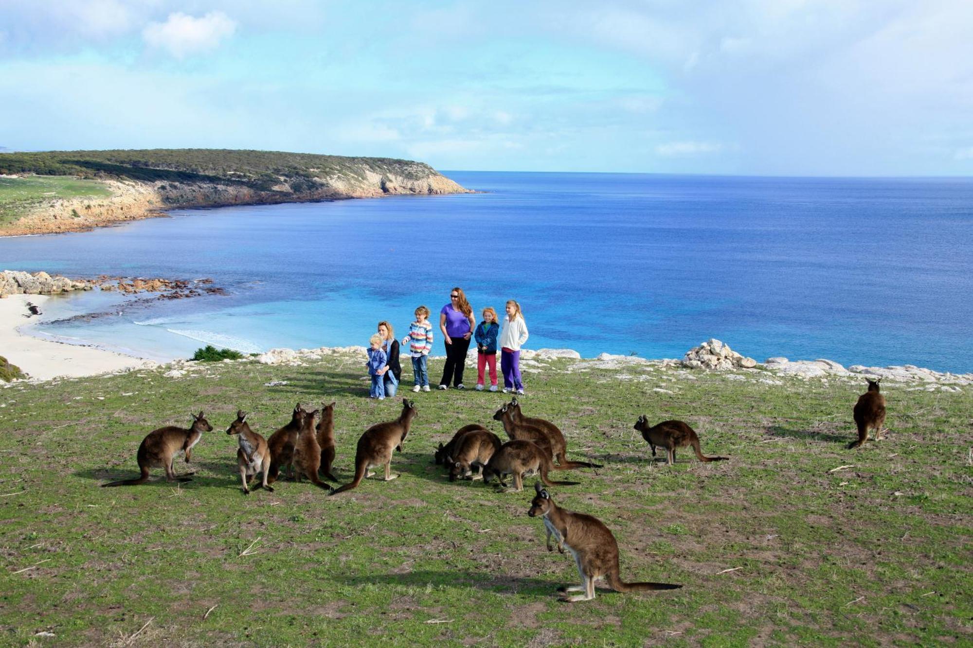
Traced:
<path fill-rule="evenodd" d="M 970 0 L 3 0 L 0 147 L 973 172 Z"/>

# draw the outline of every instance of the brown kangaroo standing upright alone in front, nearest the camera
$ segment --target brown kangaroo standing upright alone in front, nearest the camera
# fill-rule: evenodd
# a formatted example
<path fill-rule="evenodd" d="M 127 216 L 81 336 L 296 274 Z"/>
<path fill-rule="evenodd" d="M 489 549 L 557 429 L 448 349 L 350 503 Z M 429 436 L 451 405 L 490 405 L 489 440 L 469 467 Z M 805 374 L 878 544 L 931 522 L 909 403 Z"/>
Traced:
<path fill-rule="evenodd" d="M 559 588 L 558 591 L 562 593 L 560 600 L 573 603 L 595 598 L 595 580 L 602 577 L 615 592 L 677 590 L 682 587 L 668 583 L 626 583 L 622 580 L 618 564 L 618 541 L 608 527 L 592 516 L 560 508 L 540 484 L 535 484 L 534 489 L 537 494 L 530 502 L 527 515 L 531 518 L 544 518 L 548 551 L 554 551 L 551 546 L 553 535 L 558 540 L 561 553 L 562 548 L 567 547 L 578 565 L 578 575 L 581 576 L 581 585 Z M 569 596 L 568 592 L 585 594 Z"/>

